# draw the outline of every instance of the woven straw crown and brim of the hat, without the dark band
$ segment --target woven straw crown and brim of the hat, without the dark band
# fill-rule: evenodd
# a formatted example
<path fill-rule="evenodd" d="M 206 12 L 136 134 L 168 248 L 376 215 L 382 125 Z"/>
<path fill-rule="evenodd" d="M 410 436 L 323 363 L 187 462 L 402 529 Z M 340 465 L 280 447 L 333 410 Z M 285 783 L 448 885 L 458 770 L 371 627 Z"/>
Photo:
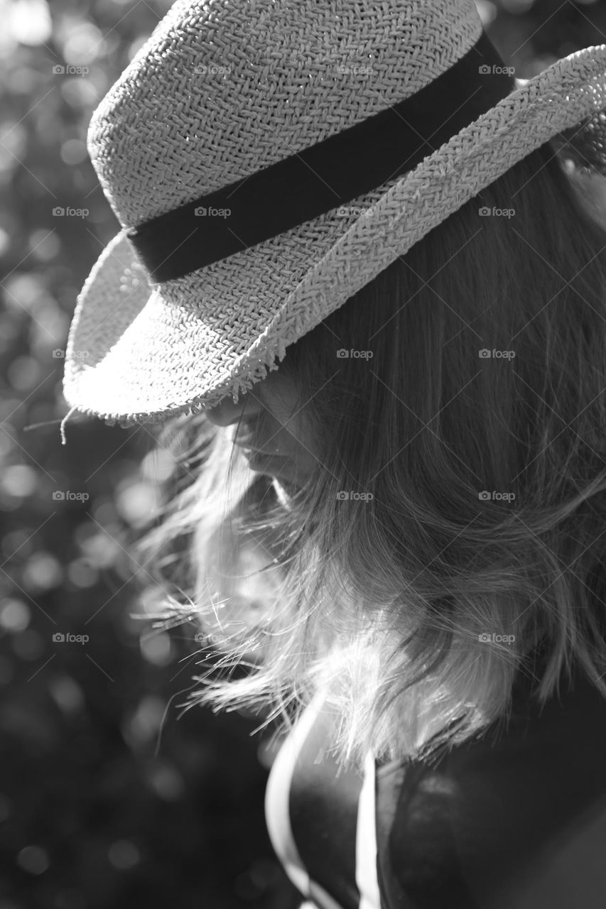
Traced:
<path fill-rule="evenodd" d="M 97 107 L 89 154 L 136 226 L 416 93 L 480 34 L 474 0 L 178 0 Z M 150 285 L 122 230 L 78 296 L 66 400 L 122 425 L 237 401 L 440 221 L 606 106 L 605 74 L 606 45 L 570 55 L 408 175 L 173 281 Z"/>

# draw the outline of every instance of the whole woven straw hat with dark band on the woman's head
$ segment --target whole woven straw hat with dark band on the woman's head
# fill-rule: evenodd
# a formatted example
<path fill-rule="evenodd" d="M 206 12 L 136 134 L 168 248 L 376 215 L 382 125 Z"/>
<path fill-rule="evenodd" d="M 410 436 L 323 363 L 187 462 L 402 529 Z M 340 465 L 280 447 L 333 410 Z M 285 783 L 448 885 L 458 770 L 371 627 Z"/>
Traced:
<path fill-rule="evenodd" d="M 64 444 L 74 411 L 237 403 L 539 145 L 602 166 L 604 106 L 606 45 L 516 79 L 474 0 L 177 0 L 89 126 L 122 229 L 78 295 Z"/>

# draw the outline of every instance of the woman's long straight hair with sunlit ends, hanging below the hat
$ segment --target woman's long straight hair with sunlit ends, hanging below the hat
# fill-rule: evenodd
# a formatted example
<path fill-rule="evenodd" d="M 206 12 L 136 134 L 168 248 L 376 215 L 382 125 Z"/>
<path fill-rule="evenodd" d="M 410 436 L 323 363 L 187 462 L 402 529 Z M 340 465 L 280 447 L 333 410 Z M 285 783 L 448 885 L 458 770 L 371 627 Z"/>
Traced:
<path fill-rule="evenodd" d="M 606 697 L 606 227 L 574 181 L 542 145 L 287 348 L 296 494 L 232 427 L 164 426 L 177 480 L 136 548 L 147 614 L 213 661 L 189 705 L 290 727 L 322 688 L 361 766 L 479 734 L 521 675 Z"/>

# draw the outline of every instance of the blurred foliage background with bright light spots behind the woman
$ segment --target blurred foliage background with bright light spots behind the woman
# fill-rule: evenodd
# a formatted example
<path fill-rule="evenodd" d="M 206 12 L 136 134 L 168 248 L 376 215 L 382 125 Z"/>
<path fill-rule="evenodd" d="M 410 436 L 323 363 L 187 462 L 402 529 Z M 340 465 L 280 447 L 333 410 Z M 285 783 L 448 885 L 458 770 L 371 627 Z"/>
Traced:
<path fill-rule="evenodd" d="M 0 909 L 299 902 L 263 816 L 271 727 L 179 709 L 195 645 L 133 615 L 128 541 L 172 459 L 145 426 L 60 444 L 76 295 L 119 230 L 86 127 L 169 6 L 0 0 Z M 521 77 L 606 43 L 604 0 L 478 7 Z"/>

